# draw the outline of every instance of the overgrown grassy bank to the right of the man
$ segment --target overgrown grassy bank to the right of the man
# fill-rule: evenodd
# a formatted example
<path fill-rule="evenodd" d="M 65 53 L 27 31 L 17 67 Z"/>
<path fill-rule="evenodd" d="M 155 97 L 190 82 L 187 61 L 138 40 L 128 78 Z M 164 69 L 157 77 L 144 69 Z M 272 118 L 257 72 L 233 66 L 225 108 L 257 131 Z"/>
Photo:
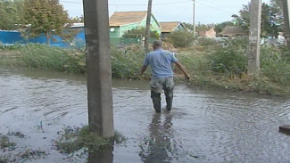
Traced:
<path fill-rule="evenodd" d="M 244 38 L 220 43 L 206 40 L 181 50 L 178 56 L 196 86 L 257 94 L 290 94 L 290 53 L 284 47 L 261 46 L 261 71 L 247 75 L 247 42 Z M 211 42 L 211 43 L 210 43 Z"/>

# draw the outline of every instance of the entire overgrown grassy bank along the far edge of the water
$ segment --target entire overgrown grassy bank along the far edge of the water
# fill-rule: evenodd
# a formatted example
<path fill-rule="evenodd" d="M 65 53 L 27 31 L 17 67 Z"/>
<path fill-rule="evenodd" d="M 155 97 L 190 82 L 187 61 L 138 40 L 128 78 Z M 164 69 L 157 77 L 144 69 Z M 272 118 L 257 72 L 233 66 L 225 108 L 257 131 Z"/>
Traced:
<path fill-rule="evenodd" d="M 1 49 L 1 48 L 0 48 Z M 284 47 L 261 46 L 261 73 L 250 77 L 247 68 L 247 41 L 244 38 L 216 42 L 200 39 L 196 45 L 176 49 L 178 60 L 191 74 L 195 86 L 258 94 L 290 94 L 290 53 Z M 144 49 L 138 45 L 117 49 L 112 46 L 112 77 L 141 79 L 139 71 Z M 54 69 L 86 73 L 85 52 L 44 45 L 26 45 L 0 50 L 0 65 L 30 69 Z M 178 69 L 176 69 L 177 74 Z"/>

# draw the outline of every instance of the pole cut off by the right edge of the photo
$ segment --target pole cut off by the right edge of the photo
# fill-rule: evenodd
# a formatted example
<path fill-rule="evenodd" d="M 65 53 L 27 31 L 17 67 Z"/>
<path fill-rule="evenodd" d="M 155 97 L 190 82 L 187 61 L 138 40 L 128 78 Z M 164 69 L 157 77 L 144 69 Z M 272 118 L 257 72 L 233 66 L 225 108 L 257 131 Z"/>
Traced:
<path fill-rule="evenodd" d="M 286 45 L 287 49 L 290 50 L 290 2 L 289 0 L 283 1 L 283 12 L 286 27 Z"/>

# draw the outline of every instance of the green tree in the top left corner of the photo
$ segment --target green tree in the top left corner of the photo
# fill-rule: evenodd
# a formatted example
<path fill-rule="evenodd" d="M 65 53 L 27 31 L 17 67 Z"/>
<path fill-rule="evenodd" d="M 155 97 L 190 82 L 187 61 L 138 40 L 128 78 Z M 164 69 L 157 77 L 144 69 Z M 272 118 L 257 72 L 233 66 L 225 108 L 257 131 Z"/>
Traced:
<path fill-rule="evenodd" d="M 16 29 L 22 22 L 23 1 L 0 0 L 0 29 Z"/>

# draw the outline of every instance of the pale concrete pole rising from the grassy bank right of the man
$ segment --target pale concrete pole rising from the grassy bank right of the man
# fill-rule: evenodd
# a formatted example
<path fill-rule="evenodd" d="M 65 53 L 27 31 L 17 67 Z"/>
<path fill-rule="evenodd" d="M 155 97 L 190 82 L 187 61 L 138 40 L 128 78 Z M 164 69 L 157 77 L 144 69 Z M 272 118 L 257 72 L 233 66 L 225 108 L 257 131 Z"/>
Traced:
<path fill-rule="evenodd" d="M 249 39 L 248 74 L 258 75 L 260 71 L 261 0 L 251 0 Z"/>

